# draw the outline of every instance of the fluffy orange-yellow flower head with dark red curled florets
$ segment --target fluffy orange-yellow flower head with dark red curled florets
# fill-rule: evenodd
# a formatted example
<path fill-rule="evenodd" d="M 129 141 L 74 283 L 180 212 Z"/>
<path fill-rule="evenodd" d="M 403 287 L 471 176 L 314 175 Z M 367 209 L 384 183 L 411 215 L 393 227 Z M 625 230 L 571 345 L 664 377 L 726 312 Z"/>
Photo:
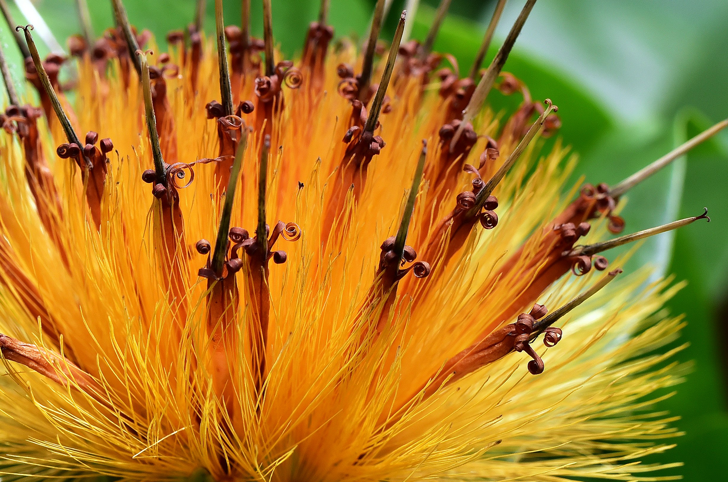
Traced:
<path fill-rule="evenodd" d="M 21 28 L 41 107 L 0 55 L 2 472 L 651 478 L 635 460 L 675 435 L 649 395 L 680 376 L 660 351 L 678 286 L 608 285 L 607 250 L 709 221 L 614 237 L 626 192 L 727 122 L 562 194 L 557 108 L 502 72 L 534 1 L 481 72 L 499 2 L 464 79 L 432 52 L 447 0 L 422 44 L 403 12 L 384 49 L 384 0 L 361 48 L 331 44 L 323 1 L 295 62 L 270 0 L 264 39 L 216 0 L 215 39 L 198 13 L 164 53 L 120 0 L 73 59 Z M 521 106 L 494 113 L 493 89 Z"/>

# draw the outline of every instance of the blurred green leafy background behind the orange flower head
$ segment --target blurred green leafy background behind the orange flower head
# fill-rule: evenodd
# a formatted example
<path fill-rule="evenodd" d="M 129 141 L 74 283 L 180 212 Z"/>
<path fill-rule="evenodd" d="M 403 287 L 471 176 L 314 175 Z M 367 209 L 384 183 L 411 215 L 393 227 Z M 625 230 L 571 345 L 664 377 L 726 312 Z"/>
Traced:
<path fill-rule="evenodd" d="M 27 1 L 27 0 L 26 0 Z M 9 0 L 12 4 L 12 0 Z M 58 39 L 79 32 L 75 0 L 35 0 Z M 112 24 L 111 2 L 88 0 L 95 33 Z M 124 0 L 130 20 L 160 42 L 194 15 L 194 0 Z M 262 34 L 261 4 L 253 0 L 253 33 Z M 510 0 L 496 31 L 502 40 L 523 6 Z M 207 1 L 207 31 L 214 25 Z M 240 1 L 223 0 L 226 23 L 240 23 Z M 274 0 L 274 35 L 289 56 L 299 52 L 318 0 Z M 373 0 L 331 0 L 337 35 L 361 36 Z M 392 12 L 403 8 L 395 0 Z M 452 52 L 467 71 L 480 45 L 494 0 L 453 0 L 435 50 Z M 422 1 L 413 37 L 427 31 L 436 0 Z M 23 15 L 13 7 L 17 21 Z M 383 36 L 391 36 L 389 15 Z M 28 19 L 35 23 L 36 20 Z M 614 183 L 728 116 L 728 2 L 725 0 L 540 0 L 505 70 L 525 80 L 534 98 L 559 106 L 561 135 L 579 153 L 587 181 Z M 36 24 L 37 26 L 37 24 Z M 9 33 L 2 33 L 9 44 Z M 63 43 L 63 42 L 62 42 Z M 494 47 L 494 49 L 496 48 Z M 488 59 L 494 55 L 491 49 Z M 20 74 L 18 74 L 20 77 Z M 491 101 L 503 102 L 494 92 Z M 672 272 L 689 285 L 670 301 L 689 324 L 679 360 L 692 360 L 687 381 L 660 408 L 681 416 L 685 435 L 650 463 L 684 462 L 655 475 L 722 481 L 728 473 L 728 134 L 630 192 L 628 232 L 710 209 L 711 224 L 695 224 L 647 242 L 638 260 L 657 274 Z"/>

